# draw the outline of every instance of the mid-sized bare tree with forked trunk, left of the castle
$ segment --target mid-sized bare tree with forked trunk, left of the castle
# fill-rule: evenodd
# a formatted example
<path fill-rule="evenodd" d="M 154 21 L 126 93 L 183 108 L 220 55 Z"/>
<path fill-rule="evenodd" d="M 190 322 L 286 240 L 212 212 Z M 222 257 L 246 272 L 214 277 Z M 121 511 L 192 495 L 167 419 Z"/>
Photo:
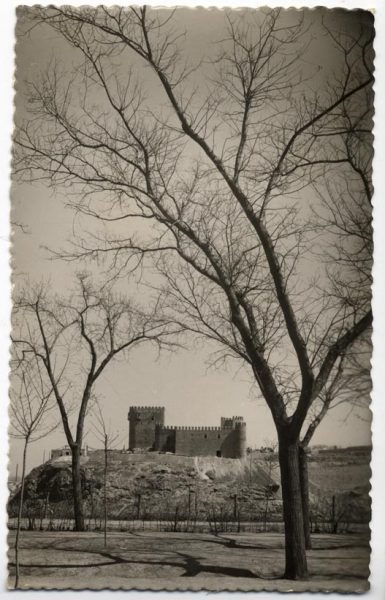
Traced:
<path fill-rule="evenodd" d="M 168 332 L 154 313 L 140 311 L 114 294 L 111 286 L 99 291 L 85 275 L 78 277 L 75 293 L 68 300 L 50 297 L 44 286 L 35 286 L 23 290 L 14 306 L 16 352 L 39 363 L 60 411 L 72 455 L 75 528 L 82 531 L 81 451 L 96 383 L 111 361 L 127 356 L 138 345 L 171 345 Z"/>

